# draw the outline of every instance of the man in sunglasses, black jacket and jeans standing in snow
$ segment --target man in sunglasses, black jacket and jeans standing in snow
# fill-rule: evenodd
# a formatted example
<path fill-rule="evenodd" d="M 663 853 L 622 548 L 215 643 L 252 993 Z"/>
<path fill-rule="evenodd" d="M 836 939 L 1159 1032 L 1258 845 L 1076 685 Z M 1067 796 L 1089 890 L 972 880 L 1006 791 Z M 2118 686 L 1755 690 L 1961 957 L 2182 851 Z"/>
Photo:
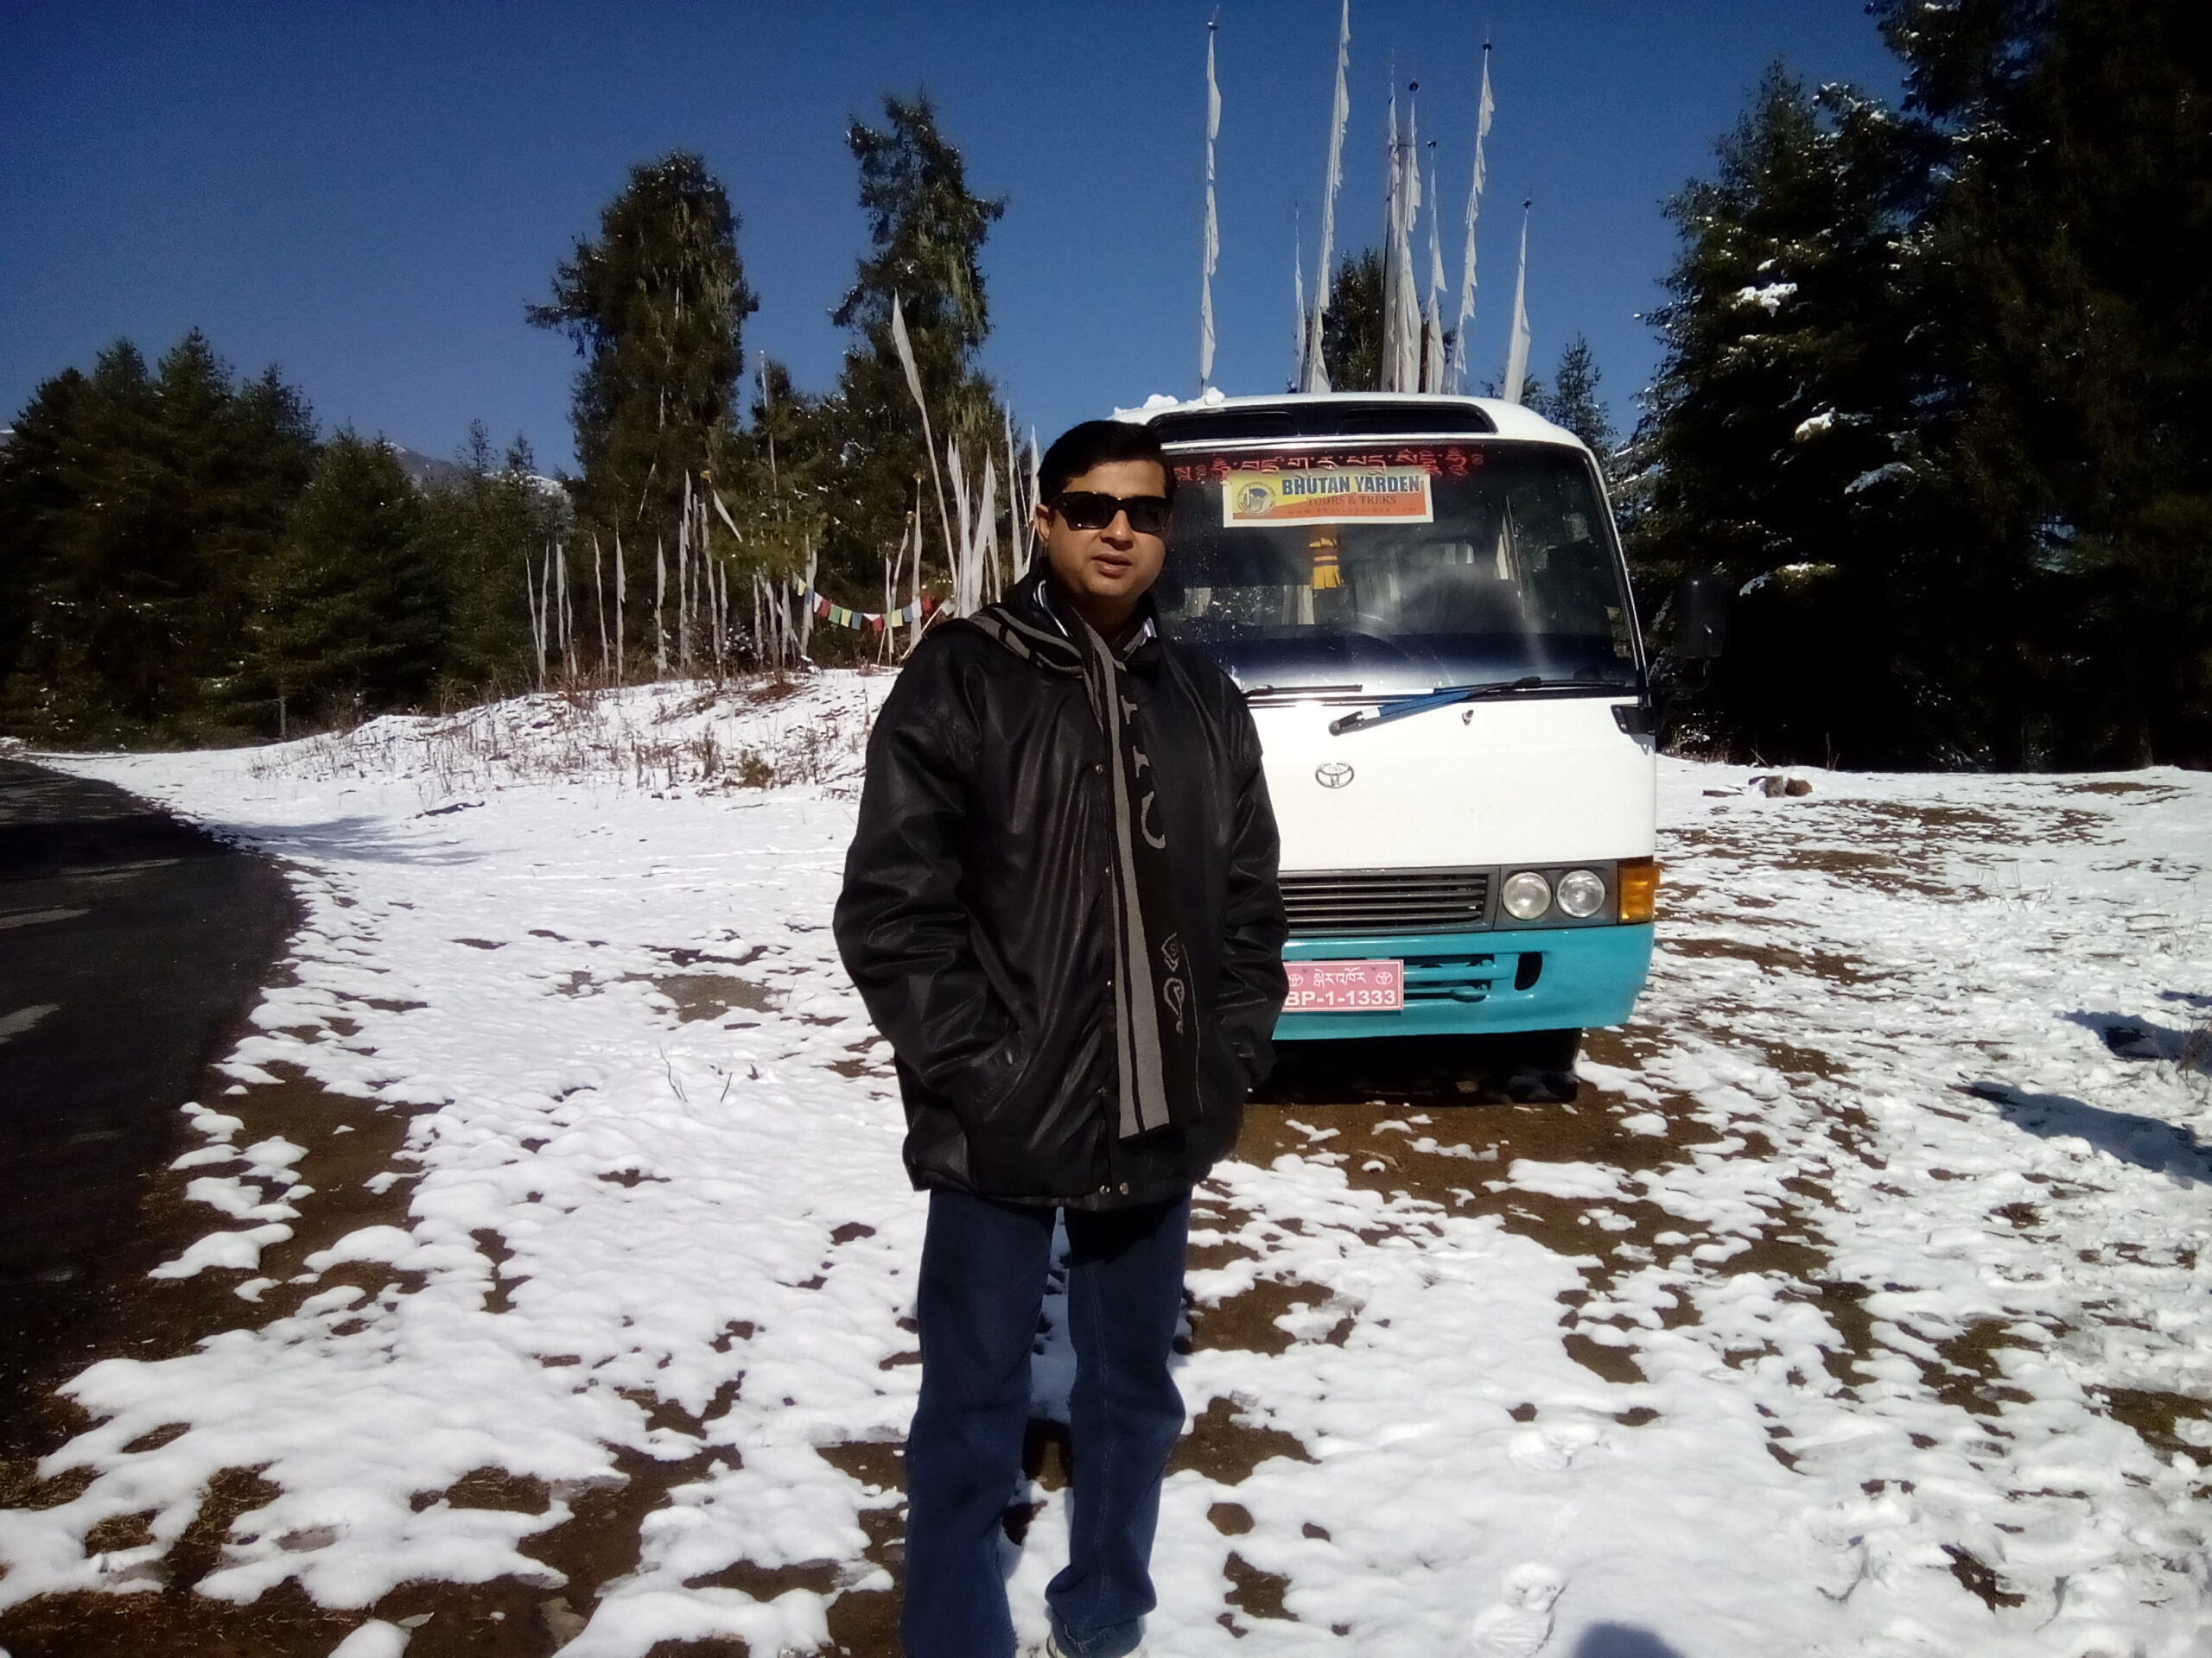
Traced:
<path fill-rule="evenodd" d="M 1124 1658 L 1155 1605 L 1190 1187 L 1237 1141 L 1285 993 L 1252 716 L 1146 597 L 1172 493 L 1146 427 L 1064 433 L 1029 577 L 916 648 L 867 747 L 836 940 L 929 1192 L 909 1658 L 1013 1654 L 1000 1523 L 1055 1214 L 1077 1375 L 1046 1651 Z"/>

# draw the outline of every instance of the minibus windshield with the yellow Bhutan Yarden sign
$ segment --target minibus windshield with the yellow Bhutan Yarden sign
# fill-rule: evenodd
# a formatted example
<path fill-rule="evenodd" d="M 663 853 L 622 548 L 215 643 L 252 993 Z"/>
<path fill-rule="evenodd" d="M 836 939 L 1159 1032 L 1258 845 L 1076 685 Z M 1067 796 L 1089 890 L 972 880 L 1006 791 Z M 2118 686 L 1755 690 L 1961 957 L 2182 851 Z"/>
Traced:
<path fill-rule="evenodd" d="M 1637 685 L 1619 557 L 1575 449 L 1354 442 L 1170 460 L 1161 621 L 1245 690 Z"/>

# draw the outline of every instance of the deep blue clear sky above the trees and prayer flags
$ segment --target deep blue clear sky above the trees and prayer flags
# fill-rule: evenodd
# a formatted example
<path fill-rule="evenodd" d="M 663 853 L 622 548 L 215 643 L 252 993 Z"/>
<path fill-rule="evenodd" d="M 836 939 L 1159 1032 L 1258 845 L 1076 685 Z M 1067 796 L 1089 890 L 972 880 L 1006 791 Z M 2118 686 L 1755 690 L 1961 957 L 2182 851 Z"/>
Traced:
<path fill-rule="evenodd" d="M 1225 391 L 1290 374 L 1294 225 L 1312 270 L 1336 0 L 1099 4 L 97 4 L 0 0 L 0 413 L 119 336 L 199 325 L 281 365 L 325 427 L 451 453 L 471 418 L 566 464 L 575 358 L 524 327 L 624 168 L 697 148 L 728 183 L 761 312 L 748 356 L 803 387 L 865 228 L 843 148 L 927 86 L 987 248 L 987 369 L 1060 427 L 1197 382 L 1206 20 L 1219 11 Z M 1761 66 L 1896 93 L 1858 0 L 1354 0 L 1338 248 L 1380 225 L 1391 75 L 1420 82 L 1447 270 L 1495 40 L 1473 367 L 1504 358 L 1520 203 L 1546 371 L 1590 336 L 1617 418 L 1657 345 L 1659 201 L 1710 166 Z"/>

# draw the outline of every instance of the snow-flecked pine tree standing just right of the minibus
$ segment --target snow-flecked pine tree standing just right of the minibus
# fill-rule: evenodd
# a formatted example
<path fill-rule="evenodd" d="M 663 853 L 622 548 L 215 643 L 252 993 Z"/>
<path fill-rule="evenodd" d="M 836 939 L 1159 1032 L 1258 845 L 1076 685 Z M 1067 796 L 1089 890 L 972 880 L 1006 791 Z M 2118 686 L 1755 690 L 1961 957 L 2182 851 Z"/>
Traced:
<path fill-rule="evenodd" d="M 1913 478 L 1902 181 L 1880 113 L 1770 69 L 1668 203 L 1683 237 L 1637 433 L 1646 612 L 1686 570 L 1741 588 L 1677 716 L 1770 760 L 1924 763 L 1953 710 L 1898 632 Z"/>

